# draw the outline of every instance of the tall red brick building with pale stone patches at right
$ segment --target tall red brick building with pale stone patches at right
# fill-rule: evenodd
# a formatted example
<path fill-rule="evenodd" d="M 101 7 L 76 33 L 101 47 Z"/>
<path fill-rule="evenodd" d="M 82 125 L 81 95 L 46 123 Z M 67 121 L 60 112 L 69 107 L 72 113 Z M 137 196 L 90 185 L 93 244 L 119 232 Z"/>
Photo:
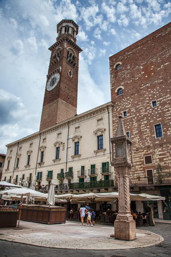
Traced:
<path fill-rule="evenodd" d="M 168 23 L 111 56 L 109 65 L 113 132 L 123 115 L 133 140 L 132 191 L 167 196 L 171 210 L 170 46 Z M 164 215 L 170 218 L 169 213 Z"/>

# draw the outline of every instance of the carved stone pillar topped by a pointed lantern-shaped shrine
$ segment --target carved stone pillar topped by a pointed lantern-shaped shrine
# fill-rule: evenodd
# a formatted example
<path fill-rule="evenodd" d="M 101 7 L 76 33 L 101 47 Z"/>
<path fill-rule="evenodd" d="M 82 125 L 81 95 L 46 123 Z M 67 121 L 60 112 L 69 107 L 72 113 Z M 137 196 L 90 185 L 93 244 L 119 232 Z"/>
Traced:
<path fill-rule="evenodd" d="M 119 115 L 115 137 L 111 138 L 112 162 L 118 179 L 119 212 L 114 222 L 115 234 L 111 237 L 120 240 L 136 239 L 135 220 L 130 212 L 129 174 L 133 164 L 132 140 L 126 135 Z"/>

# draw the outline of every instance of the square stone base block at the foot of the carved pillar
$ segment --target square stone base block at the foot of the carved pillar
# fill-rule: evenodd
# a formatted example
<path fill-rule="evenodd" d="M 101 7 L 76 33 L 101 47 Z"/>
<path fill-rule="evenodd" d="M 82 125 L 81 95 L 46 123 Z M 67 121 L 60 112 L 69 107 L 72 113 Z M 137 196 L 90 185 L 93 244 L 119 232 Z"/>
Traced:
<path fill-rule="evenodd" d="M 135 220 L 115 220 L 114 228 L 115 239 L 128 241 L 136 239 Z"/>

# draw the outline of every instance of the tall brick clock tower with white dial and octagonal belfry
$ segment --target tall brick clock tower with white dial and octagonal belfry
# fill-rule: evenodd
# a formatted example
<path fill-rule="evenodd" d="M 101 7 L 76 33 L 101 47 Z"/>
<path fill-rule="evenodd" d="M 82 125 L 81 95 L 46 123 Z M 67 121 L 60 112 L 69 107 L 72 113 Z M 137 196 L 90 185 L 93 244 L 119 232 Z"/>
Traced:
<path fill-rule="evenodd" d="M 57 24 L 58 37 L 51 51 L 40 130 L 77 114 L 78 61 L 82 49 L 76 44 L 78 25 L 73 20 Z"/>

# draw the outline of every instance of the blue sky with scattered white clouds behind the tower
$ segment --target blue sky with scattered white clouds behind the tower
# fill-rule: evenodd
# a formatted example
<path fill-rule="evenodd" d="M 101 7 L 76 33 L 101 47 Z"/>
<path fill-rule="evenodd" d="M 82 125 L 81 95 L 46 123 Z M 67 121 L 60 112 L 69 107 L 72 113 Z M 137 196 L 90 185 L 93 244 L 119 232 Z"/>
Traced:
<path fill-rule="evenodd" d="M 170 12 L 167 0 L 1 0 L 0 152 L 39 130 L 59 21 L 79 25 L 80 114 L 111 100 L 109 56 L 170 22 Z"/>

